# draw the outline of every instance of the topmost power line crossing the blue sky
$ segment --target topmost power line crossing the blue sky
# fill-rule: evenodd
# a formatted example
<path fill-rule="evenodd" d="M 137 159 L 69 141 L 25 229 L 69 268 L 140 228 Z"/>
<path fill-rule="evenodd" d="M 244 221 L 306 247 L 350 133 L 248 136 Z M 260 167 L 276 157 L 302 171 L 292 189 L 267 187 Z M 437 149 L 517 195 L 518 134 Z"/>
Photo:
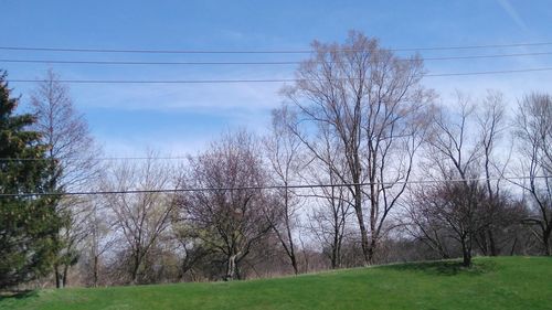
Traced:
<path fill-rule="evenodd" d="M 458 45 L 458 46 L 428 46 L 428 47 L 405 47 L 389 49 L 394 52 L 416 52 L 416 51 L 449 51 L 449 50 L 481 50 L 499 47 L 521 47 L 521 46 L 544 46 L 552 45 L 552 42 L 526 42 L 509 44 L 482 44 L 482 45 Z M 34 52 L 71 52 L 71 53 L 141 53 L 141 54 L 307 54 L 314 50 L 119 50 L 119 49 L 72 49 L 72 47 L 44 47 L 44 46 L 0 46 L 4 51 L 34 51 Z M 339 49 L 338 49 L 339 50 Z M 341 49 L 339 51 L 354 52 L 352 49 Z"/>

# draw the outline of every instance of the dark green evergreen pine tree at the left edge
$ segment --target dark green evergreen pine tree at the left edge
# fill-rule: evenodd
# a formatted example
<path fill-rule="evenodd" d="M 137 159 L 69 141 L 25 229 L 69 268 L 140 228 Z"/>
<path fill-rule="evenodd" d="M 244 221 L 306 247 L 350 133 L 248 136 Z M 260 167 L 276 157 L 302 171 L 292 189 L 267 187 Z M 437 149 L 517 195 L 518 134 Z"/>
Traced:
<path fill-rule="evenodd" d="M 28 130 L 34 117 L 14 115 L 19 98 L 10 97 L 6 76 L 0 72 L 0 289 L 50 271 L 61 222 L 56 195 L 24 195 L 55 189 L 57 168 L 44 160 L 40 135 Z"/>

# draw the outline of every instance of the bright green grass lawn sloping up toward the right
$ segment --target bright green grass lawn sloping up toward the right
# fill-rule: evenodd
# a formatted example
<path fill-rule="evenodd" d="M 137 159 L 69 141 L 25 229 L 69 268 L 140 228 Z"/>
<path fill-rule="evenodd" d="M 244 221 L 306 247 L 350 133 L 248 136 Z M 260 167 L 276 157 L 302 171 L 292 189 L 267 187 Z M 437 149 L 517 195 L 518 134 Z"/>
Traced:
<path fill-rule="evenodd" d="M 0 309 L 552 309 L 552 258 L 389 265 L 278 279 L 40 290 Z"/>

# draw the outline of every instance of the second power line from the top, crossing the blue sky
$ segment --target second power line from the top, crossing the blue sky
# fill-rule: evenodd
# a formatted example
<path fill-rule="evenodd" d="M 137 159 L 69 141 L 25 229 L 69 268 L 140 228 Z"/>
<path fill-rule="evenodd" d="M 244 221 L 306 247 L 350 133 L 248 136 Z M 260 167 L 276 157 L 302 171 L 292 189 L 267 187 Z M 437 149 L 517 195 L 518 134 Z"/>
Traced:
<path fill-rule="evenodd" d="M 518 54 L 493 54 L 493 55 L 468 55 L 468 56 L 443 56 L 422 57 L 423 61 L 455 61 L 455 60 L 479 60 L 479 58 L 506 58 L 552 55 L 552 52 L 518 53 Z M 404 62 L 417 60 L 402 58 Z M 128 62 L 128 61 L 64 61 L 64 60 L 13 60 L 0 58 L 0 63 L 32 63 L 32 64 L 85 64 L 85 65 L 298 65 L 300 61 L 282 62 Z M 322 62 L 315 62 L 322 63 Z M 338 63 L 338 62 L 325 62 Z"/>

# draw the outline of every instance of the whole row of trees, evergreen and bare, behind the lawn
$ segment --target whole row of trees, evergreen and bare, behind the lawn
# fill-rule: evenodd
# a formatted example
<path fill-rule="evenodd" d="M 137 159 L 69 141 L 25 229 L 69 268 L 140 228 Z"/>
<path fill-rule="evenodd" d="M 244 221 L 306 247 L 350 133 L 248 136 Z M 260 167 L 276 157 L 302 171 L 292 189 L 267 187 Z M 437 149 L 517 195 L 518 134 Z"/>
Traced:
<path fill-rule="evenodd" d="M 0 289 L 551 255 L 550 95 L 445 100 L 420 56 L 362 33 L 312 49 L 268 133 L 181 162 L 100 160 L 53 71 L 19 115 L 3 73 Z"/>

